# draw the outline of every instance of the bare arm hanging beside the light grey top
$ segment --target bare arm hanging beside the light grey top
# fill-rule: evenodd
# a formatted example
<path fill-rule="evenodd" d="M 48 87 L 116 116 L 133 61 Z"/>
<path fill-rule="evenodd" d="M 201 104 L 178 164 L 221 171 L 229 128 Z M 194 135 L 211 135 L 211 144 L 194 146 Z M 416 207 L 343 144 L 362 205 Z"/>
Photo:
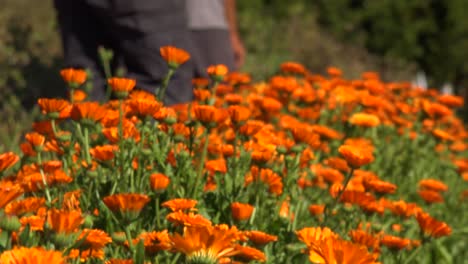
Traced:
<path fill-rule="evenodd" d="M 244 43 L 242 43 L 237 29 L 236 0 L 224 0 L 224 8 L 226 20 L 229 26 L 231 44 L 234 50 L 234 58 L 236 66 L 239 68 L 242 66 L 242 64 L 244 64 L 246 52 Z"/>

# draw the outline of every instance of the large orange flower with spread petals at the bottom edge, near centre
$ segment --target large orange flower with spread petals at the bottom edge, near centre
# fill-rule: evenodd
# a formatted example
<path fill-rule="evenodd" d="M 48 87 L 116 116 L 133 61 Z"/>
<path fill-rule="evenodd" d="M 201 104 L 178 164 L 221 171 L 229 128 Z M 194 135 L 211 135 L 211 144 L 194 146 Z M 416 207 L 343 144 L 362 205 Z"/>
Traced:
<path fill-rule="evenodd" d="M 185 254 L 187 261 L 217 263 L 220 258 L 234 255 L 234 241 L 239 231 L 235 227 L 195 226 L 185 227 L 184 234 L 170 237 L 173 249 Z"/>

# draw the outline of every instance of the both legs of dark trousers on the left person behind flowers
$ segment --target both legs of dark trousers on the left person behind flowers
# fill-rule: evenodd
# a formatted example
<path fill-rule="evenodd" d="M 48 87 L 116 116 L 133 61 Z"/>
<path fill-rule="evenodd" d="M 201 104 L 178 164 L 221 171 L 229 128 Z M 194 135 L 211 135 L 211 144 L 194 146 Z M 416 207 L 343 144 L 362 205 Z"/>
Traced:
<path fill-rule="evenodd" d="M 98 47 L 114 51 L 137 88 L 150 92 L 168 68 L 159 48 L 173 45 L 192 51 L 185 0 L 55 0 L 66 67 L 88 68 L 94 74 L 95 100 L 104 98 L 105 77 Z M 166 92 L 166 104 L 189 102 L 193 92 L 192 60 L 181 66 Z"/>

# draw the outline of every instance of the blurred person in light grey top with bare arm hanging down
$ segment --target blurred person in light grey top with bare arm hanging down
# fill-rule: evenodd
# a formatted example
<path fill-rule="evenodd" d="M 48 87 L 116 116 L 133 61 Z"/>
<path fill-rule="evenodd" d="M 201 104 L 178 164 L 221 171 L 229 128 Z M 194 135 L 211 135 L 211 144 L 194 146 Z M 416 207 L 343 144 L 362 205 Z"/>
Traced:
<path fill-rule="evenodd" d="M 186 1 L 195 76 L 206 77 L 206 68 L 213 64 L 238 70 L 246 52 L 237 29 L 236 0 Z"/>

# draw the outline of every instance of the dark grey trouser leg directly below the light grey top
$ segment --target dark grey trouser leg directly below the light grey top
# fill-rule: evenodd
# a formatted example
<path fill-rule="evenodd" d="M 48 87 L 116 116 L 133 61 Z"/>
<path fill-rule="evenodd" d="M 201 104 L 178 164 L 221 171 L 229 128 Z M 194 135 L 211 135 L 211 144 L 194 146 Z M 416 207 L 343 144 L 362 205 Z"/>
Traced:
<path fill-rule="evenodd" d="M 194 46 L 194 64 L 197 76 L 207 77 L 206 68 L 215 64 L 224 64 L 229 68 L 229 71 L 237 70 L 227 30 L 192 30 L 190 33 Z"/>

